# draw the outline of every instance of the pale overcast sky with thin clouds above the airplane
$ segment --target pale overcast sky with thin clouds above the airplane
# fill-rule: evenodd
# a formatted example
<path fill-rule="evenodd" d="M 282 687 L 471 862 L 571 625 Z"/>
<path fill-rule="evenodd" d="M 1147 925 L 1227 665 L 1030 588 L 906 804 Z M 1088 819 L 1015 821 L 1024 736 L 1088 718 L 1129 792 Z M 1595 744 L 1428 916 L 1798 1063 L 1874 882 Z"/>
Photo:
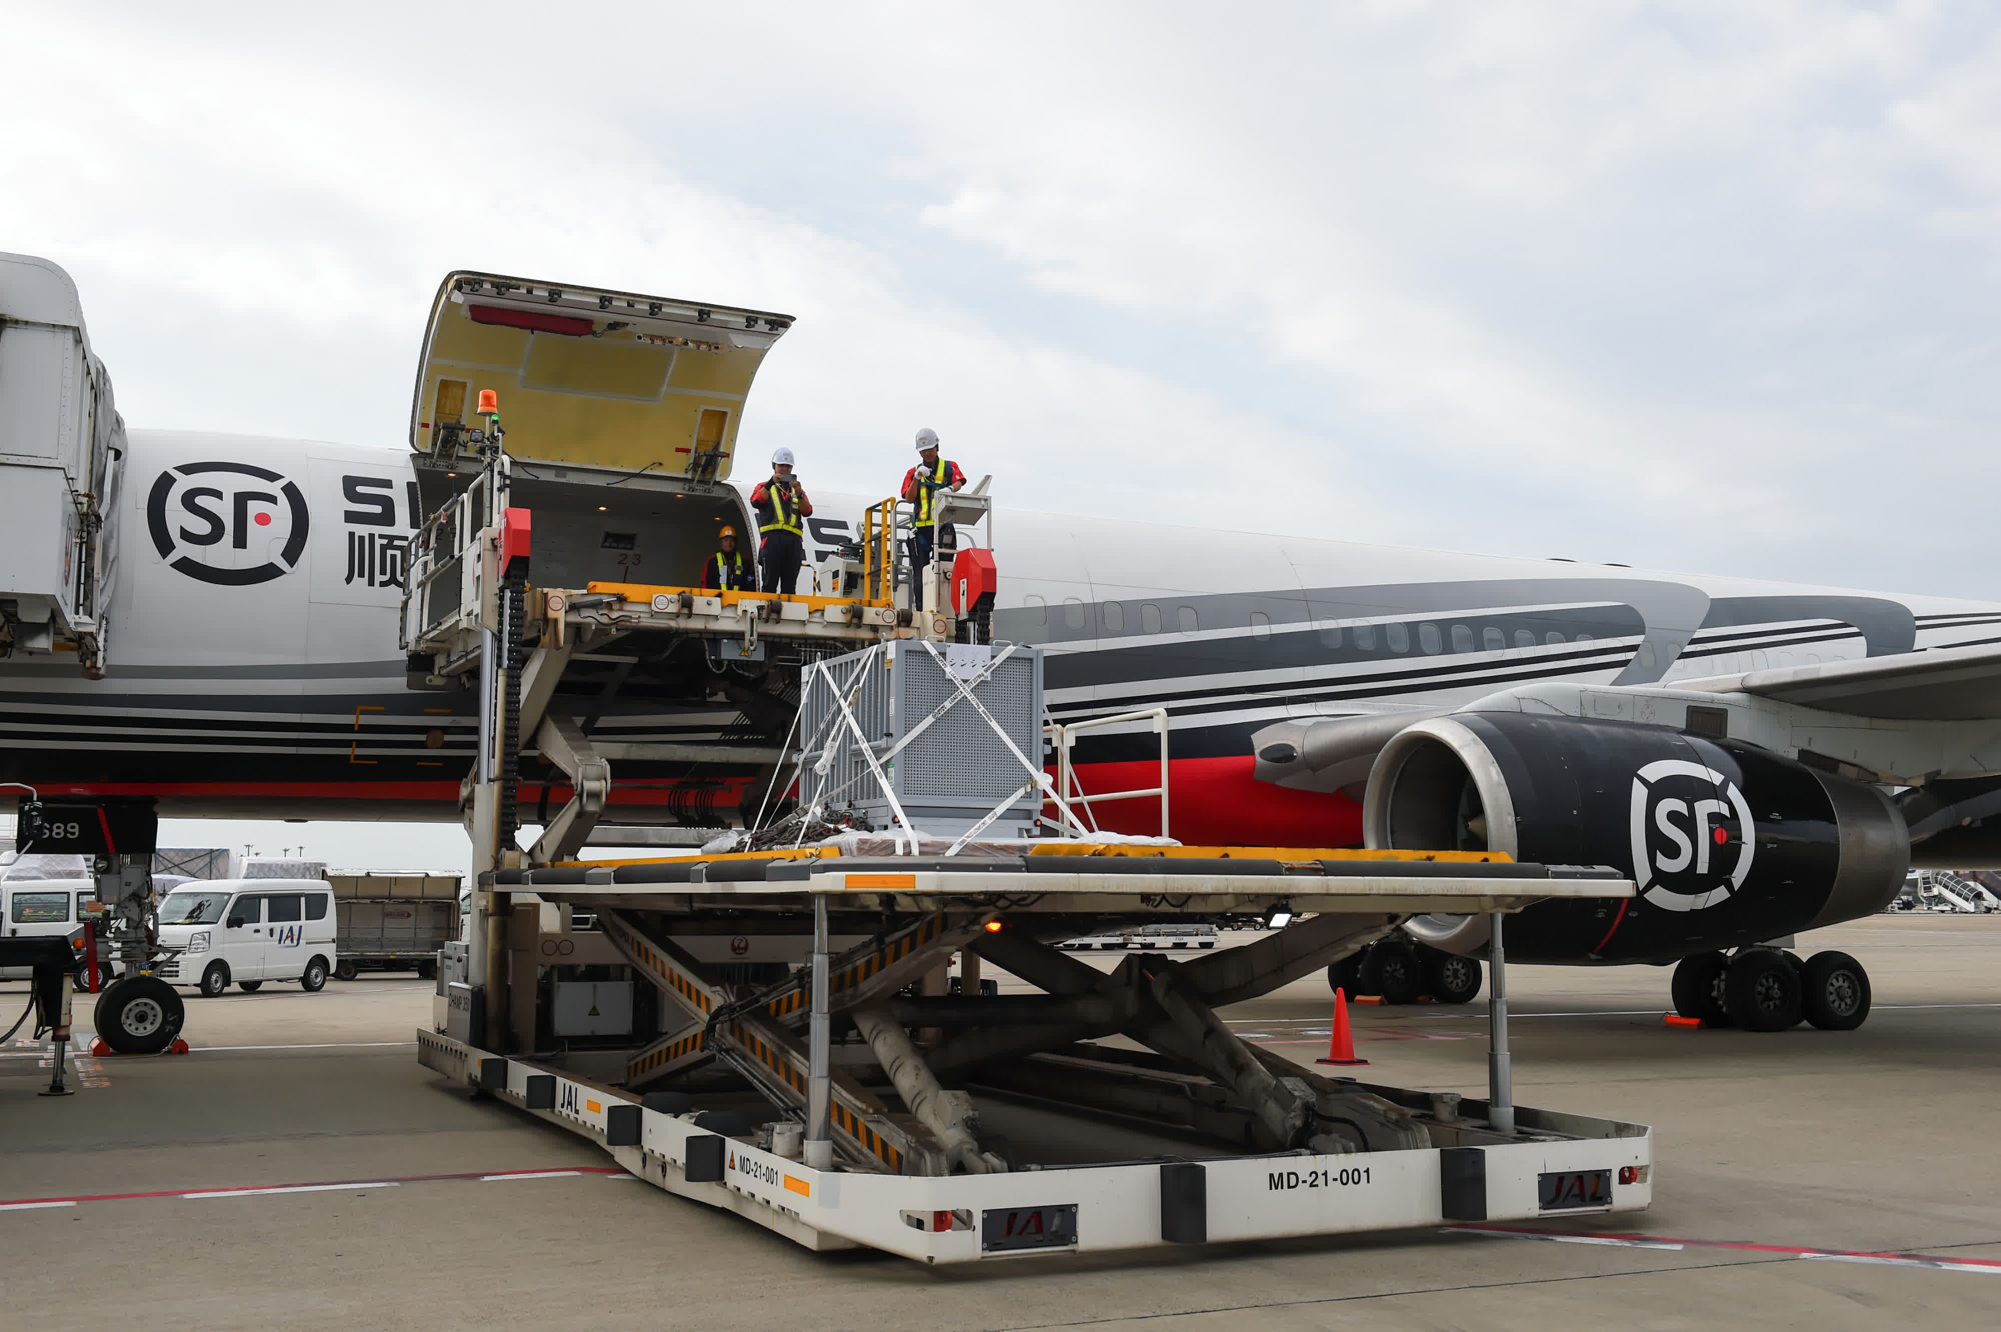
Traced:
<path fill-rule="evenodd" d="M 798 316 L 822 484 L 2001 596 L 1991 4 L 0 18 L 136 426 L 394 444 L 484 268 Z"/>

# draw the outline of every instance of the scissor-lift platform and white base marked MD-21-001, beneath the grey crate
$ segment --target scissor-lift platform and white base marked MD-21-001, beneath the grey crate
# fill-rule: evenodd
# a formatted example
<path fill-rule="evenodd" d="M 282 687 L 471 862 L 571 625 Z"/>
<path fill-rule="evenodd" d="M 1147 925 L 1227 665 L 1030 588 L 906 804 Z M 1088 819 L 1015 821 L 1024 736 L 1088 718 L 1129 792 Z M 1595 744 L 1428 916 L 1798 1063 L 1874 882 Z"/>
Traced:
<path fill-rule="evenodd" d="M 1513 1104 L 1505 1004 L 1487 1100 L 1325 1078 L 1217 1016 L 1411 914 L 1487 912 L 1499 936 L 1535 900 L 1631 894 L 1609 872 L 1479 854 L 976 850 L 492 872 L 496 896 L 536 898 L 510 918 L 536 938 L 510 930 L 512 948 L 560 956 L 568 940 L 568 956 L 616 958 L 658 998 L 656 1020 L 596 1048 L 504 1052 L 458 1016 L 418 1032 L 418 1058 L 658 1188 L 808 1248 L 924 1262 L 1649 1204 L 1651 1130 Z M 1253 942 L 1129 954 L 1111 972 L 1057 946 L 1085 922 L 1275 912 L 1291 924 Z M 782 964 L 716 960 L 752 940 Z M 926 990 L 952 954 L 1037 992 Z M 1503 966 L 1497 948 L 1497 982 Z"/>

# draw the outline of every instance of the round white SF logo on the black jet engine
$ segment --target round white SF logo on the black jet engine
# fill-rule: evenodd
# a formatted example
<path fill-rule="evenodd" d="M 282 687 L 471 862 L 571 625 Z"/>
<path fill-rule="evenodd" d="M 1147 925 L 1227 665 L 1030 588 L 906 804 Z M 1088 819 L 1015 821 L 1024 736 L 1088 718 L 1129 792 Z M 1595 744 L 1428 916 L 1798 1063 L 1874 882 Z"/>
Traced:
<path fill-rule="evenodd" d="M 1737 784 L 1663 758 L 1633 776 L 1633 882 L 1671 912 L 1729 900 L 1751 874 L 1757 830 Z"/>

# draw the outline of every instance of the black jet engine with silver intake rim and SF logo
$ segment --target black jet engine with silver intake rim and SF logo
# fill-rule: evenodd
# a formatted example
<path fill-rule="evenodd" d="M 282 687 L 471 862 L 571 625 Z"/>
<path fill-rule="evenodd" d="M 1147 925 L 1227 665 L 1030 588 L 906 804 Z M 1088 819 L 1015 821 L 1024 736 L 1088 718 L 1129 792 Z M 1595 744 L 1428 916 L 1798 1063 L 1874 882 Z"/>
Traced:
<path fill-rule="evenodd" d="M 1733 740 L 1525 712 L 1457 712 L 1399 732 L 1369 772 L 1373 848 L 1501 850 L 1609 864 L 1631 902 L 1545 902 L 1509 928 L 1523 962 L 1665 962 L 1853 920 L 1903 886 L 1911 846 L 1875 786 Z M 1447 952 L 1485 916 L 1421 916 Z"/>

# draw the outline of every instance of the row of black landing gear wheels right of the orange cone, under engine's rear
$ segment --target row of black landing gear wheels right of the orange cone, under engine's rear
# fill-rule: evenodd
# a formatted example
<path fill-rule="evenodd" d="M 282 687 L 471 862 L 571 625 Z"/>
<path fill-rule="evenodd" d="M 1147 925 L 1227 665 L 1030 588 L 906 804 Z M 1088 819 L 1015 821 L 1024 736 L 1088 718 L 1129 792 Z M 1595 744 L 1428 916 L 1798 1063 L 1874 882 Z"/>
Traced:
<path fill-rule="evenodd" d="M 1709 1026 L 1783 1032 L 1803 1020 L 1853 1032 L 1869 1018 L 1869 972 L 1845 952 L 1805 962 L 1779 948 L 1695 952 L 1675 964 L 1675 1012 Z"/>

